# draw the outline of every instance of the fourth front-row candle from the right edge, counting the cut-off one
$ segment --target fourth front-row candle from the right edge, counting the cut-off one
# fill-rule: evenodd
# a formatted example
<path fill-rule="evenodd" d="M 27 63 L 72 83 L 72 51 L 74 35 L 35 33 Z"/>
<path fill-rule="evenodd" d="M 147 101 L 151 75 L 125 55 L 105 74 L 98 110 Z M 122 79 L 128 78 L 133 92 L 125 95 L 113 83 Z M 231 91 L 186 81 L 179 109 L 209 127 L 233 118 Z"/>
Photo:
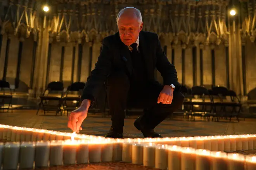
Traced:
<path fill-rule="evenodd" d="M 211 151 L 197 149 L 195 151 L 195 170 L 210 170 L 211 168 Z"/>

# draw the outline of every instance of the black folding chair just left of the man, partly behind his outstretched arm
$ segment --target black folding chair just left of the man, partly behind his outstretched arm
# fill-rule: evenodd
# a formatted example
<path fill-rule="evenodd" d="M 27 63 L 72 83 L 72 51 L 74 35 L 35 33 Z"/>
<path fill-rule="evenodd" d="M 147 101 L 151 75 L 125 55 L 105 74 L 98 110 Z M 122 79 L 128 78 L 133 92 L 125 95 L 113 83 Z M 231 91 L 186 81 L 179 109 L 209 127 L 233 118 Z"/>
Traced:
<path fill-rule="evenodd" d="M 81 98 L 81 92 L 85 87 L 84 82 L 74 82 L 68 88 L 66 93 L 62 97 L 63 110 L 67 111 L 67 116 L 69 111 L 73 111 L 78 108 Z"/>

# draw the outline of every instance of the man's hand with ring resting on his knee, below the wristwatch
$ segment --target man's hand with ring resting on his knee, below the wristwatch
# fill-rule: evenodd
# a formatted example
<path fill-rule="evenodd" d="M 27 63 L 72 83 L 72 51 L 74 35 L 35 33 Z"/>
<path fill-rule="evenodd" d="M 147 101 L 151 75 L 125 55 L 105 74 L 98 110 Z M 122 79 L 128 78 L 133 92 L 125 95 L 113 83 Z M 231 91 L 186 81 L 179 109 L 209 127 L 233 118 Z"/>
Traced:
<path fill-rule="evenodd" d="M 157 103 L 163 103 L 163 104 L 171 104 L 173 100 L 173 88 L 169 85 L 165 85 L 163 90 L 160 92 Z"/>

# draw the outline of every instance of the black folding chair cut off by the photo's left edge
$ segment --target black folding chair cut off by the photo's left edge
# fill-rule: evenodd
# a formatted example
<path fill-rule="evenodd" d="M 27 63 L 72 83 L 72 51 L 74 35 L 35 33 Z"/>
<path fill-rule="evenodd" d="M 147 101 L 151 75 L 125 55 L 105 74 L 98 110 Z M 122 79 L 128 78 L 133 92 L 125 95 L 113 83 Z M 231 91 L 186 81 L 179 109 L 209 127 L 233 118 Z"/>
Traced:
<path fill-rule="evenodd" d="M 10 107 L 12 108 L 12 90 L 10 89 L 10 83 L 4 80 L 0 80 L 0 99 L 2 99 L 0 109 L 3 109 L 3 112 L 5 110 L 5 100 L 9 100 L 9 103 L 7 104 L 7 112 L 9 112 Z M 6 93 L 5 89 L 8 89 L 9 93 Z"/>

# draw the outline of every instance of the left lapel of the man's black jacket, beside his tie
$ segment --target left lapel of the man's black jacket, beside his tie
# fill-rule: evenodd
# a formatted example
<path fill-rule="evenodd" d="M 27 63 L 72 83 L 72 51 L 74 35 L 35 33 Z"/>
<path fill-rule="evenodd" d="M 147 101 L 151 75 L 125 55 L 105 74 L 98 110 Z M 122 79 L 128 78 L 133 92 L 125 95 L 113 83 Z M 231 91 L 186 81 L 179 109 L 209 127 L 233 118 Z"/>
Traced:
<path fill-rule="evenodd" d="M 131 56 L 128 47 L 121 41 L 119 37 L 119 33 L 115 34 L 116 40 L 118 42 L 118 48 L 120 52 L 120 57 L 123 62 L 125 62 L 125 65 L 130 73 L 130 75 L 133 74 L 133 67 L 131 62 Z"/>

